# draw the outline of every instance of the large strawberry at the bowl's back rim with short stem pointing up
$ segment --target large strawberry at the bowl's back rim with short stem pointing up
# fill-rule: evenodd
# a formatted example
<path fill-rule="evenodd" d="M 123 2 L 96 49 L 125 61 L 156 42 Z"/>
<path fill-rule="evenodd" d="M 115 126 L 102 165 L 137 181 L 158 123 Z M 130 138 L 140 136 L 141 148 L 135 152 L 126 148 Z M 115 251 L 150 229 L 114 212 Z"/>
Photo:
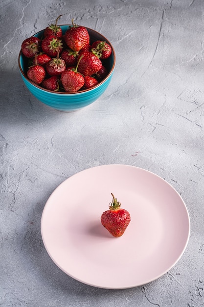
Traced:
<path fill-rule="evenodd" d="M 72 19 L 72 25 L 65 32 L 65 42 L 73 51 L 79 51 L 90 43 L 89 32 L 84 26 L 77 26 Z"/>

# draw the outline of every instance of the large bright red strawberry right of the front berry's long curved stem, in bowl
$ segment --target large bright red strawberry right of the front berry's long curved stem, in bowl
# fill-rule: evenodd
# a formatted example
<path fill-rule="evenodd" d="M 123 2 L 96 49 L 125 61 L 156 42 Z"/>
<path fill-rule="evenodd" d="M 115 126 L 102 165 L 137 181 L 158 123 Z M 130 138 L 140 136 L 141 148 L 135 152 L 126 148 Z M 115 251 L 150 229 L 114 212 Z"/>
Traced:
<path fill-rule="evenodd" d="M 78 72 L 84 76 L 92 76 L 102 68 L 101 60 L 91 51 L 84 51 L 79 62 Z"/>

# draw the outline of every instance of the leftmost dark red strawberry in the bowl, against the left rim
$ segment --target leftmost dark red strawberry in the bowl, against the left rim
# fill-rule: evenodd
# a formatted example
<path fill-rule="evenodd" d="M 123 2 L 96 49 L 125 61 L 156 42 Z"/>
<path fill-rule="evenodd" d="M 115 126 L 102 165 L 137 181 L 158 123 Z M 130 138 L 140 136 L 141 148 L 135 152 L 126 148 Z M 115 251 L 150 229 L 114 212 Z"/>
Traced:
<path fill-rule="evenodd" d="M 26 38 L 21 46 L 22 53 L 24 56 L 31 58 L 35 53 L 40 51 L 41 40 L 38 37 L 31 36 Z"/>

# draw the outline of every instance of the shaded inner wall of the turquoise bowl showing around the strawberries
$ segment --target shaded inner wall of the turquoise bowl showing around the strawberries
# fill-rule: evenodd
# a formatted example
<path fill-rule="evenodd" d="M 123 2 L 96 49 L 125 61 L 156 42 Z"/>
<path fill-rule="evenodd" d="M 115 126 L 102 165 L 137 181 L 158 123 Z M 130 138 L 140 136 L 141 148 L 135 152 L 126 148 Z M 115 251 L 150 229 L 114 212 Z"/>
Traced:
<path fill-rule="evenodd" d="M 60 25 L 60 26 L 62 28 L 62 32 L 63 32 L 63 35 L 64 35 L 65 32 L 67 31 L 69 25 Z M 90 35 L 90 45 L 94 41 L 102 40 L 102 41 L 106 41 L 112 47 L 112 54 L 111 54 L 111 56 L 108 59 L 103 60 L 103 66 L 107 69 L 108 76 L 109 76 L 109 74 L 113 70 L 113 66 L 114 66 L 114 62 L 115 62 L 115 54 L 114 54 L 113 46 L 102 34 L 96 32 L 96 31 L 94 31 L 94 30 L 92 30 L 90 28 L 87 28 L 87 30 L 88 30 L 89 35 Z M 43 39 L 43 32 L 44 32 L 44 30 L 39 31 L 38 33 L 34 34 L 33 36 L 36 36 L 36 37 L 38 37 L 40 39 Z M 27 76 L 26 76 L 27 75 L 27 70 L 28 70 L 28 67 L 32 65 L 32 61 L 33 60 L 29 59 L 29 58 L 26 58 L 23 55 L 23 53 L 21 53 L 21 57 L 23 59 L 23 61 L 21 61 L 22 71 L 23 71 L 24 77 L 27 78 Z M 104 80 L 106 80 L 107 77 L 105 77 Z M 103 82 L 103 80 L 101 82 Z"/>

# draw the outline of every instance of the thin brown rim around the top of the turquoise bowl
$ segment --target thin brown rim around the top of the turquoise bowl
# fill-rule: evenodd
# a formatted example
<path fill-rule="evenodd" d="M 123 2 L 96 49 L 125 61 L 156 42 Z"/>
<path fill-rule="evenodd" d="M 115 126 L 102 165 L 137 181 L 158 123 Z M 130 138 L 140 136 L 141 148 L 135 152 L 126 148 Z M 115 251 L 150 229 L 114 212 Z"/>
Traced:
<path fill-rule="evenodd" d="M 64 24 L 63 24 L 63 25 L 58 25 L 58 26 L 72 26 L 72 25 L 64 25 Z M 46 88 L 44 88 L 44 87 L 42 87 L 42 86 L 40 86 L 40 85 L 34 83 L 32 80 L 30 80 L 30 79 L 26 76 L 26 74 L 24 74 L 23 69 L 22 69 L 22 67 L 21 67 L 21 61 L 20 61 L 21 57 L 23 56 L 23 52 L 22 52 L 22 50 L 21 50 L 21 51 L 19 52 L 18 63 L 19 63 L 19 69 L 20 69 L 21 74 L 23 75 L 23 77 L 24 77 L 29 83 L 31 83 L 33 86 L 37 87 L 38 89 L 40 89 L 40 90 L 42 90 L 42 91 L 45 91 L 45 92 L 48 92 L 48 93 L 57 94 L 57 95 L 58 95 L 58 94 L 59 94 L 59 95 L 70 95 L 70 94 L 73 95 L 73 94 L 80 94 L 80 93 L 92 91 L 92 90 L 94 90 L 95 88 L 99 87 L 102 83 L 106 82 L 106 80 L 112 75 L 113 70 L 114 70 L 114 67 L 115 67 L 115 51 L 114 51 L 113 45 L 112 45 L 111 42 L 110 42 L 104 35 L 102 35 L 100 32 L 97 32 L 96 30 L 91 29 L 91 28 L 89 28 L 89 27 L 87 27 L 87 26 L 84 26 L 84 27 L 85 27 L 87 30 L 91 30 L 91 31 L 95 32 L 96 34 L 99 34 L 100 36 L 102 36 L 102 37 L 104 38 L 104 41 L 106 41 L 106 42 L 111 46 L 111 48 L 112 48 L 112 52 L 113 52 L 113 65 L 112 65 L 112 68 L 111 68 L 110 72 L 108 73 L 108 75 L 107 75 L 102 81 L 100 81 L 98 84 L 94 85 L 94 86 L 91 87 L 91 88 L 88 88 L 88 89 L 85 89 L 85 90 L 82 90 L 82 91 L 77 91 L 77 92 L 55 92 L 55 91 L 48 90 L 48 89 L 46 89 Z M 37 35 L 37 34 L 43 32 L 43 31 L 45 31 L 45 28 L 42 29 L 42 30 L 40 30 L 40 31 L 38 31 L 38 32 L 36 32 L 35 34 L 31 35 L 30 37 L 35 36 L 35 35 Z"/>

